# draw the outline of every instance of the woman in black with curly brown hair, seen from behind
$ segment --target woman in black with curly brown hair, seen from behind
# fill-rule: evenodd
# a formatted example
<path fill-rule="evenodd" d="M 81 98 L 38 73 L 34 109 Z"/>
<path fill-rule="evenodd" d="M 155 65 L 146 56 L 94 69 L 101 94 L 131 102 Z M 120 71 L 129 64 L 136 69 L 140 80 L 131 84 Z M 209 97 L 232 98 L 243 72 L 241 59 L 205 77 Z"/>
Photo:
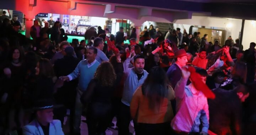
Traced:
<path fill-rule="evenodd" d="M 119 55 L 117 62 L 117 74 L 111 63 L 102 62 L 95 72 L 94 79 L 81 96 L 81 103 L 88 104 L 86 119 L 89 135 L 104 135 L 111 120 L 111 98 L 116 81 L 121 80 L 119 72 L 123 72 Z"/>

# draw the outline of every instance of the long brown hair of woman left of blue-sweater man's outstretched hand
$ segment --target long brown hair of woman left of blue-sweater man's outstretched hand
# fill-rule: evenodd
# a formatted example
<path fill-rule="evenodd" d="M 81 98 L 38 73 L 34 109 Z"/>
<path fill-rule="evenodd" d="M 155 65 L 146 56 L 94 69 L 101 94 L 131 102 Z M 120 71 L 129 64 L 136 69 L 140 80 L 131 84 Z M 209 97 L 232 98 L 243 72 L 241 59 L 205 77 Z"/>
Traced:
<path fill-rule="evenodd" d="M 39 75 L 44 77 L 54 77 L 54 71 L 50 60 L 45 58 L 39 60 Z"/>

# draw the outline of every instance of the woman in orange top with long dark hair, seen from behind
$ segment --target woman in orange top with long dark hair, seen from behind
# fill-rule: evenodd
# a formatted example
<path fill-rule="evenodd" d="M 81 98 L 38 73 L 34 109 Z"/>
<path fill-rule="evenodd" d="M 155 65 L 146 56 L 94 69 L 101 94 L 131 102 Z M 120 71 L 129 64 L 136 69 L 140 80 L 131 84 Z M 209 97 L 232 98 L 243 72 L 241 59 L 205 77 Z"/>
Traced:
<path fill-rule="evenodd" d="M 136 135 L 170 134 L 170 121 L 174 117 L 170 100 L 174 98 L 165 71 L 155 66 L 135 91 L 130 104 L 131 116 L 137 123 Z"/>

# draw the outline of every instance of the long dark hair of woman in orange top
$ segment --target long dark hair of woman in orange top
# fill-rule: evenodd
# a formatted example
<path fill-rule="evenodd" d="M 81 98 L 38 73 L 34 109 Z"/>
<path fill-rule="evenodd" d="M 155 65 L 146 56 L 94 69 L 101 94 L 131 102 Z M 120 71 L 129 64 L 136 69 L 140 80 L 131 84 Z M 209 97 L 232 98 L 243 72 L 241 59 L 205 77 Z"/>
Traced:
<path fill-rule="evenodd" d="M 149 100 L 149 109 L 159 112 L 164 98 L 168 95 L 169 86 L 165 71 L 160 66 L 153 67 L 142 85 L 142 93 Z"/>

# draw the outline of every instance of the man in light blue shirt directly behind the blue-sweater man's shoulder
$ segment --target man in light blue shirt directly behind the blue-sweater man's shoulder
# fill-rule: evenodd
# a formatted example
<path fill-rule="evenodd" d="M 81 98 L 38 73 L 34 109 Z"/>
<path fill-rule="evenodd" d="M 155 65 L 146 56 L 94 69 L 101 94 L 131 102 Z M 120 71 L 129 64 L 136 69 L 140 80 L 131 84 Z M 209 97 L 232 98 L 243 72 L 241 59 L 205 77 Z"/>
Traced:
<path fill-rule="evenodd" d="M 109 59 L 107 58 L 106 54 L 102 52 L 103 48 L 104 48 L 104 41 L 102 38 L 97 37 L 94 39 L 94 47 L 97 48 L 98 53 L 96 56 L 96 60 L 101 63 L 103 61 L 109 61 Z"/>

